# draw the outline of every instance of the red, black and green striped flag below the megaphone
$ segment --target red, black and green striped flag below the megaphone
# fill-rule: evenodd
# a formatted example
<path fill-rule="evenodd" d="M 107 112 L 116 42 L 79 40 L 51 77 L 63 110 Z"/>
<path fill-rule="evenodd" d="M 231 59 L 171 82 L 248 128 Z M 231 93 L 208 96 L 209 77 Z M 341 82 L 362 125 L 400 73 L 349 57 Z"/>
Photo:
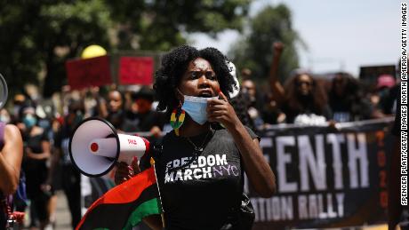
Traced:
<path fill-rule="evenodd" d="M 141 219 L 160 214 L 155 167 L 140 172 L 110 189 L 92 203 L 76 230 L 95 228 L 132 229 Z"/>

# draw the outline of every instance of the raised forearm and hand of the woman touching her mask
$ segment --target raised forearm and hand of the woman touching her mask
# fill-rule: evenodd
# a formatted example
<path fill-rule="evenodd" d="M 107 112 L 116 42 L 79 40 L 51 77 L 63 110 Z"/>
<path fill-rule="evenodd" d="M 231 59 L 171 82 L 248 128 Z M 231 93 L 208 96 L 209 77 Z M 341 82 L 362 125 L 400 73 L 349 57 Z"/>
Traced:
<path fill-rule="evenodd" d="M 259 140 L 251 138 L 226 96 L 222 92 L 220 92 L 220 96 L 223 99 L 209 100 L 207 106 L 208 120 L 222 123 L 230 132 L 242 155 L 245 173 L 254 189 L 262 197 L 269 197 L 276 191 L 276 177 L 262 155 Z"/>

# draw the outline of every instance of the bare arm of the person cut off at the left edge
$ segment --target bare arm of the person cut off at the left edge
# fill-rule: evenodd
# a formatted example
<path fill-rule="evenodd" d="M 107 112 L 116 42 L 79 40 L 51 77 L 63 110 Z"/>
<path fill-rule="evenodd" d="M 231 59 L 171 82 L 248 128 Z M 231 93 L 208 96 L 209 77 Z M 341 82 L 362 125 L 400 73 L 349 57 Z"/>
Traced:
<path fill-rule="evenodd" d="M 20 179 L 23 143 L 19 129 L 7 124 L 4 128 L 4 147 L 0 153 L 0 190 L 4 194 L 16 191 Z"/>

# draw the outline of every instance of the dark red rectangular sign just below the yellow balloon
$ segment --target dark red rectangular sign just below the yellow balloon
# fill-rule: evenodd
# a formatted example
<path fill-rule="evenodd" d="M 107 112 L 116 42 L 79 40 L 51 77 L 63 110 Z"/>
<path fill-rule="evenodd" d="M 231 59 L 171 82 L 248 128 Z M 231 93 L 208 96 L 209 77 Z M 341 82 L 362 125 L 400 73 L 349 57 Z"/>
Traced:
<path fill-rule="evenodd" d="M 112 83 L 108 56 L 68 60 L 66 68 L 68 84 L 74 90 Z"/>

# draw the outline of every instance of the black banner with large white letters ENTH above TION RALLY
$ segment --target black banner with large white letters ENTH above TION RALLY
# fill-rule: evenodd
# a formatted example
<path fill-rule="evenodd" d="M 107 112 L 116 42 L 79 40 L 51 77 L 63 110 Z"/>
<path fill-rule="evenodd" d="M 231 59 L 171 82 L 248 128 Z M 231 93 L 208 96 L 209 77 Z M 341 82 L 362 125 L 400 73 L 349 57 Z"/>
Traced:
<path fill-rule="evenodd" d="M 277 194 L 250 188 L 253 229 L 360 226 L 386 221 L 393 118 L 329 127 L 277 126 L 261 147 L 277 177 Z M 247 189 L 247 187 L 246 187 Z"/>

